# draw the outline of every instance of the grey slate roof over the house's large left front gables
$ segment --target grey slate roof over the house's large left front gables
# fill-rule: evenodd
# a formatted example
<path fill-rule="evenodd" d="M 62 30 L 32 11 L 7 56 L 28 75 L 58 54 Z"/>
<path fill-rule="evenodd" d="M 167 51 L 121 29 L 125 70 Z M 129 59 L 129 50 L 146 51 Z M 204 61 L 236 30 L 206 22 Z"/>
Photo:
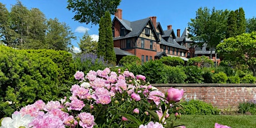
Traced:
<path fill-rule="evenodd" d="M 154 32 L 156 41 L 157 42 L 160 41 L 159 38 L 156 35 L 155 27 L 152 24 L 152 21 L 149 17 L 144 18 L 144 19 L 140 19 L 140 20 L 137 20 L 137 21 L 133 21 L 133 22 L 127 21 L 125 19 L 119 19 L 119 18 L 115 17 L 113 19 L 112 23 L 114 22 L 115 19 L 118 20 L 119 22 L 121 21 L 120 23 L 125 28 L 127 27 L 128 30 L 131 30 L 131 32 L 127 33 L 127 35 L 125 35 L 125 36 L 115 37 L 114 40 L 119 40 L 119 39 L 122 39 L 122 38 L 138 37 L 138 36 L 140 36 L 140 33 L 143 31 L 146 24 L 150 22 L 150 27 L 154 28 L 154 29 L 152 29 L 152 32 Z"/>

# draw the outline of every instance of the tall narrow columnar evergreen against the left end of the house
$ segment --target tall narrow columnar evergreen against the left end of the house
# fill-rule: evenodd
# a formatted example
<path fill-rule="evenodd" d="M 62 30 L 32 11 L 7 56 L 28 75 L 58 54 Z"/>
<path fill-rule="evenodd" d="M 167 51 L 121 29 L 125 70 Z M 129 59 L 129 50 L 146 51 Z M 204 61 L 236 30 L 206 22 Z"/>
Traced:
<path fill-rule="evenodd" d="M 105 12 L 105 16 L 100 19 L 97 55 L 99 57 L 103 56 L 105 61 L 112 64 L 116 63 L 114 41 L 112 39 L 112 22 L 109 12 Z"/>

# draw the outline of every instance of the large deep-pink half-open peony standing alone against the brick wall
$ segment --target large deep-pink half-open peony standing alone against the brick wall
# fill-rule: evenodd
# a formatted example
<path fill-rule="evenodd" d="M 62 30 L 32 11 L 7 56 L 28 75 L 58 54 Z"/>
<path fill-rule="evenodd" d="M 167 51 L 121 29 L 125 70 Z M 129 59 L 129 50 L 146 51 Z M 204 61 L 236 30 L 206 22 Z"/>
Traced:
<path fill-rule="evenodd" d="M 166 99 L 169 102 L 179 102 L 183 97 L 183 89 L 178 90 L 176 88 L 169 88 L 169 90 L 166 92 Z"/>

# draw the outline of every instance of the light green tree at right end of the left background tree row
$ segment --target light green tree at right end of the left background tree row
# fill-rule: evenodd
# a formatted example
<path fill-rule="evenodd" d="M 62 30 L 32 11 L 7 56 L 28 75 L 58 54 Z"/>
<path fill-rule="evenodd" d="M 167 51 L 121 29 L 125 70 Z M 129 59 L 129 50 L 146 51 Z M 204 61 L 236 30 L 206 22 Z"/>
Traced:
<path fill-rule="evenodd" d="M 71 40 L 75 38 L 66 23 L 58 22 L 57 18 L 47 21 L 46 49 L 72 51 Z"/>

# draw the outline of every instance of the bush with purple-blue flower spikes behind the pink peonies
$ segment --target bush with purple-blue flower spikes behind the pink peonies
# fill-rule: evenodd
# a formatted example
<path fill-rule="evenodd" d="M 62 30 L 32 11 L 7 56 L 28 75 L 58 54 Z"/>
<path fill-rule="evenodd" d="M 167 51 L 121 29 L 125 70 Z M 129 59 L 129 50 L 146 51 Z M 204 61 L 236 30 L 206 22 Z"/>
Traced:
<path fill-rule="evenodd" d="M 81 53 L 80 55 L 76 55 L 74 60 L 78 71 L 97 71 L 103 70 L 107 67 L 107 63 L 104 61 L 104 58 L 98 57 L 94 53 Z"/>

